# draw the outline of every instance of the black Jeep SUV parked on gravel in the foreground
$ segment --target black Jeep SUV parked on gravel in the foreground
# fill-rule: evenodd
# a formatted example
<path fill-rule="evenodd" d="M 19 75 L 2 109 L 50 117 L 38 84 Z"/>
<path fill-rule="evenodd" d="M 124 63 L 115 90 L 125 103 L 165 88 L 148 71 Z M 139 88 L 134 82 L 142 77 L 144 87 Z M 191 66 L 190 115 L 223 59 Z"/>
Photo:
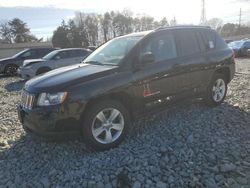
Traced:
<path fill-rule="evenodd" d="M 210 28 L 133 33 L 100 46 L 82 64 L 28 81 L 19 118 L 37 135 L 81 133 L 93 148 L 109 149 L 131 119 L 155 106 L 183 97 L 219 105 L 234 72 L 232 50 Z"/>

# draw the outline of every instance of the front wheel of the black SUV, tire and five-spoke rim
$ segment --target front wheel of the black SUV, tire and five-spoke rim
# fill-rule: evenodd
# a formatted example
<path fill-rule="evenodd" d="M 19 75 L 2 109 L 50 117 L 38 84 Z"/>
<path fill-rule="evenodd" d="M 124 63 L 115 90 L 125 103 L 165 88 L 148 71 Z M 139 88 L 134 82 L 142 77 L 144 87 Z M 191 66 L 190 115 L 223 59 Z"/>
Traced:
<path fill-rule="evenodd" d="M 120 144 L 130 124 L 127 109 L 114 100 L 95 103 L 83 119 L 83 138 L 94 150 L 107 150 Z"/>

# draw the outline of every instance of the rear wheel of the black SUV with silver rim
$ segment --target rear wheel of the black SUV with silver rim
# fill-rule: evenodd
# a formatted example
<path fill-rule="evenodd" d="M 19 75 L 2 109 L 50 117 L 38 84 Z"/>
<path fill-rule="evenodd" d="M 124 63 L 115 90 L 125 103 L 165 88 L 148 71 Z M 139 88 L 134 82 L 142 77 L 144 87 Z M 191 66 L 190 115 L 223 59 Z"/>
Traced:
<path fill-rule="evenodd" d="M 227 94 L 227 81 L 224 74 L 216 73 L 207 89 L 206 103 L 215 107 L 220 105 Z"/>

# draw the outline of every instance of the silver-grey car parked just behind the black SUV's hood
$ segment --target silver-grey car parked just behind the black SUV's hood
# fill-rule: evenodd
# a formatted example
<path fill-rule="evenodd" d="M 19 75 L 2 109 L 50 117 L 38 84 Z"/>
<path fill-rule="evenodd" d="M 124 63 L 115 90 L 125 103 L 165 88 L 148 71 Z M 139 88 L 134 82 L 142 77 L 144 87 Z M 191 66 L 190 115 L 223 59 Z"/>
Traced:
<path fill-rule="evenodd" d="M 81 63 L 91 53 L 91 50 L 82 48 L 67 48 L 55 50 L 42 59 L 26 60 L 18 69 L 18 75 L 23 79 L 30 79 L 36 75 L 52 69 Z"/>

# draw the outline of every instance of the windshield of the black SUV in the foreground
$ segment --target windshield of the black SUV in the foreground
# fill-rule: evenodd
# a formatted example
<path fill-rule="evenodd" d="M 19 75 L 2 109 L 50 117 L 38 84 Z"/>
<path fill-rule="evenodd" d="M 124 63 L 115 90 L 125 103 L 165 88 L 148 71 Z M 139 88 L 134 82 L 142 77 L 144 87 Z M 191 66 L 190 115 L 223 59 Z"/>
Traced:
<path fill-rule="evenodd" d="M 143 36 L 129 36 L 113 39 L 96 49 L 83 63 L 118 65 Z"/>

